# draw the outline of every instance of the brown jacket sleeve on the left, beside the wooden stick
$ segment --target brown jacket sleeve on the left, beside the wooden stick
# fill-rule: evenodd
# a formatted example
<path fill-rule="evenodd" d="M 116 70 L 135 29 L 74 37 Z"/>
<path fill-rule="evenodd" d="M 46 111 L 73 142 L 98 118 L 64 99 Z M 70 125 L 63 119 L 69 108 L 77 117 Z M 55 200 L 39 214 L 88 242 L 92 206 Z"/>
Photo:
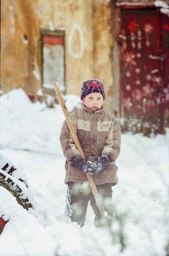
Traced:
<path fill-rule="evenodd" d="M 77 132 L 77 129 L 75 126 L 74 128 L 75 128 L 75 131 Z M 70 133 L 66 120 L 63 122 L 63 125 L 61 128 L 60 144 L 62 147 L 63 154 L 68 161 L 71 162 L 76 155 L 80 155 L 79 151 L 76 148 L 76 145 L 74 144 L 74 140 L 72 138 L 72 135 Z"/>

